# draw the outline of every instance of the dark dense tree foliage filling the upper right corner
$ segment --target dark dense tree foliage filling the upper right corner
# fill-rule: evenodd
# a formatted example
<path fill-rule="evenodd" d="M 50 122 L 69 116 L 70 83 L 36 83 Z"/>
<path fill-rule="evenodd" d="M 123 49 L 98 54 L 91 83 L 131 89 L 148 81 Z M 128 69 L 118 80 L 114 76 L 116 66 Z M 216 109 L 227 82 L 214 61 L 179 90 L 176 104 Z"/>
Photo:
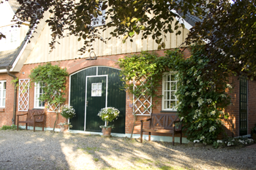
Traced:
<path fill-rule="evenodd" d="M 235 74 L 256 75 L 255 1 L 213 1 L 202 23 L 189 32 L 187 45 L 206 41 L 212 69 L 223 66 Z"/>

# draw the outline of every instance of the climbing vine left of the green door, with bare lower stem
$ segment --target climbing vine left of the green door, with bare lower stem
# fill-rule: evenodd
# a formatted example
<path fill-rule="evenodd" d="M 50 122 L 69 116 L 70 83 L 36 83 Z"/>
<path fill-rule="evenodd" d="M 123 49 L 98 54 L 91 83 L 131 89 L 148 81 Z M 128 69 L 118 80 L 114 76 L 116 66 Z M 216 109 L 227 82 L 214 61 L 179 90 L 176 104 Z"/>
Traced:
<path fill-rule="evenodd" d="M 61 69 L 59 66 L 51 65 L 46 63 L 44 65 L 39 65 L 31 70 L 29 77 L 32 82 L 42 82 L 42 96 L 39 96 L 40 101 L 46 101 L 48 104 L 54 104 L 55 106 L 60 106 L 64 103 L 64 91 L 66 90 L 67 81 L 67 69 Z M 59 112 L 56 112 L 58 120 Z M 55 129 L 56 122 L 54 123 L 53 131 Z"/>

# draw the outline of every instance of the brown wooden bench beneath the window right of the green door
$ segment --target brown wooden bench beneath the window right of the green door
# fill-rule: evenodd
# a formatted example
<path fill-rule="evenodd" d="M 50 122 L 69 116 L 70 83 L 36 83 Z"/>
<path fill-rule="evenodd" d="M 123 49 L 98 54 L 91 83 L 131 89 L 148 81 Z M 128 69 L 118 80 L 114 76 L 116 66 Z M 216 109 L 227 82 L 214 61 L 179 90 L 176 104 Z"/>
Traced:
<path fill-rule="evenodd" d="M 149 122 L 149 128 L 143 128 L 143 123 Z M 173 134 L 173 145 L 174 135 L 181 134 L 180 143 L 182 144 L 182 123 L 178 120 L 176 113 L 157 113 L 151 114 L 151 118 L 147 120 L 140 120 L 140 142 L 143 142 L 143 132 L 148 132 L 148 141 L 151 140 L 151 132 L 153 133 L 164 133 Z"/>

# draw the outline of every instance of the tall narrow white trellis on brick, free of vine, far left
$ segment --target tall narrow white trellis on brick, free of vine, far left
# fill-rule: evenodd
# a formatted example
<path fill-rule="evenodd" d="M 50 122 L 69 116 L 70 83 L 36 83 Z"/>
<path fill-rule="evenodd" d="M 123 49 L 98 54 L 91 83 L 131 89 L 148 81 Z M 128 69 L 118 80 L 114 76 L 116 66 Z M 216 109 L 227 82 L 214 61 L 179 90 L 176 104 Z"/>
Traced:
<path fill-rule="evenodd" d="M 29 79 L 19 80 L 18 111 L 29 110 Z"/>

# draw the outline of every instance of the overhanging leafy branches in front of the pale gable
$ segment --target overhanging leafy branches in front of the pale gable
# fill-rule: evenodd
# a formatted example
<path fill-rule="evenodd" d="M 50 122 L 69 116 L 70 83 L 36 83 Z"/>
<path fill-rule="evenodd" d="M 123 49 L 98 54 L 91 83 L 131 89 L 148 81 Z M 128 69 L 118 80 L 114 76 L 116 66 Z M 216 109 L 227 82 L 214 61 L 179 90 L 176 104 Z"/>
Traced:
<path fill-rule="evenodd" d="M 7 0 L 6 0 L 7 1 Z M 3 2 L 3 0 L 0 0 Z M 107 9 L 106 18 L 110 17 L 110 23 L 106 23 L 105 28 L 116 27 L 110 34 L 112 36 L 123 36 L 123 40 L 143 32 L 143 39 L 152 35 L 153 39 L 159 44 L 159 48 L 165 47 L 165 42 L 160 38 L 162 32 L 172 33 L 179 28 L 178 21 L 175 27 L 172 24 L 175 18 L 181 18 L 179 11 L 200 15 L 201 5 L 206 4 L 206 0 L 177 0 L 177 1 L 149 1 L 149 0 L 80 0 L 75 3 L 73 0 L 18 0 L 20 7 L 15 13 L 14 21 L 20 26 L 22 21 L 29 20 L 31 28 L 38 24 L 49 11 L 53 14 L 46 20 L 52 31 L 51 49 L 57 42 L 57 38 L 64 36 L 78 36 L 78 41 L 84 41 L 81 52 L 90 51 L 91 43 L 95 39 L 102 39 L 99 28 L 91 25 L 91 22 L 99 22 L 98 16 L 102 15 L 102 10 Z M 151 17 L 152 16 L 152 17 Z M 184 24 L 181 24 L 184 27 Z M 67 31 L 67 35 L 64 34 Z M 31 34 L 31 33 L 30 33 Z M 177 34 L 181 34 L 178 31 Z M 0 38 L 3 37 L 0 34 Z M 132 39 L 130 39 L 132 41 Z"/>

